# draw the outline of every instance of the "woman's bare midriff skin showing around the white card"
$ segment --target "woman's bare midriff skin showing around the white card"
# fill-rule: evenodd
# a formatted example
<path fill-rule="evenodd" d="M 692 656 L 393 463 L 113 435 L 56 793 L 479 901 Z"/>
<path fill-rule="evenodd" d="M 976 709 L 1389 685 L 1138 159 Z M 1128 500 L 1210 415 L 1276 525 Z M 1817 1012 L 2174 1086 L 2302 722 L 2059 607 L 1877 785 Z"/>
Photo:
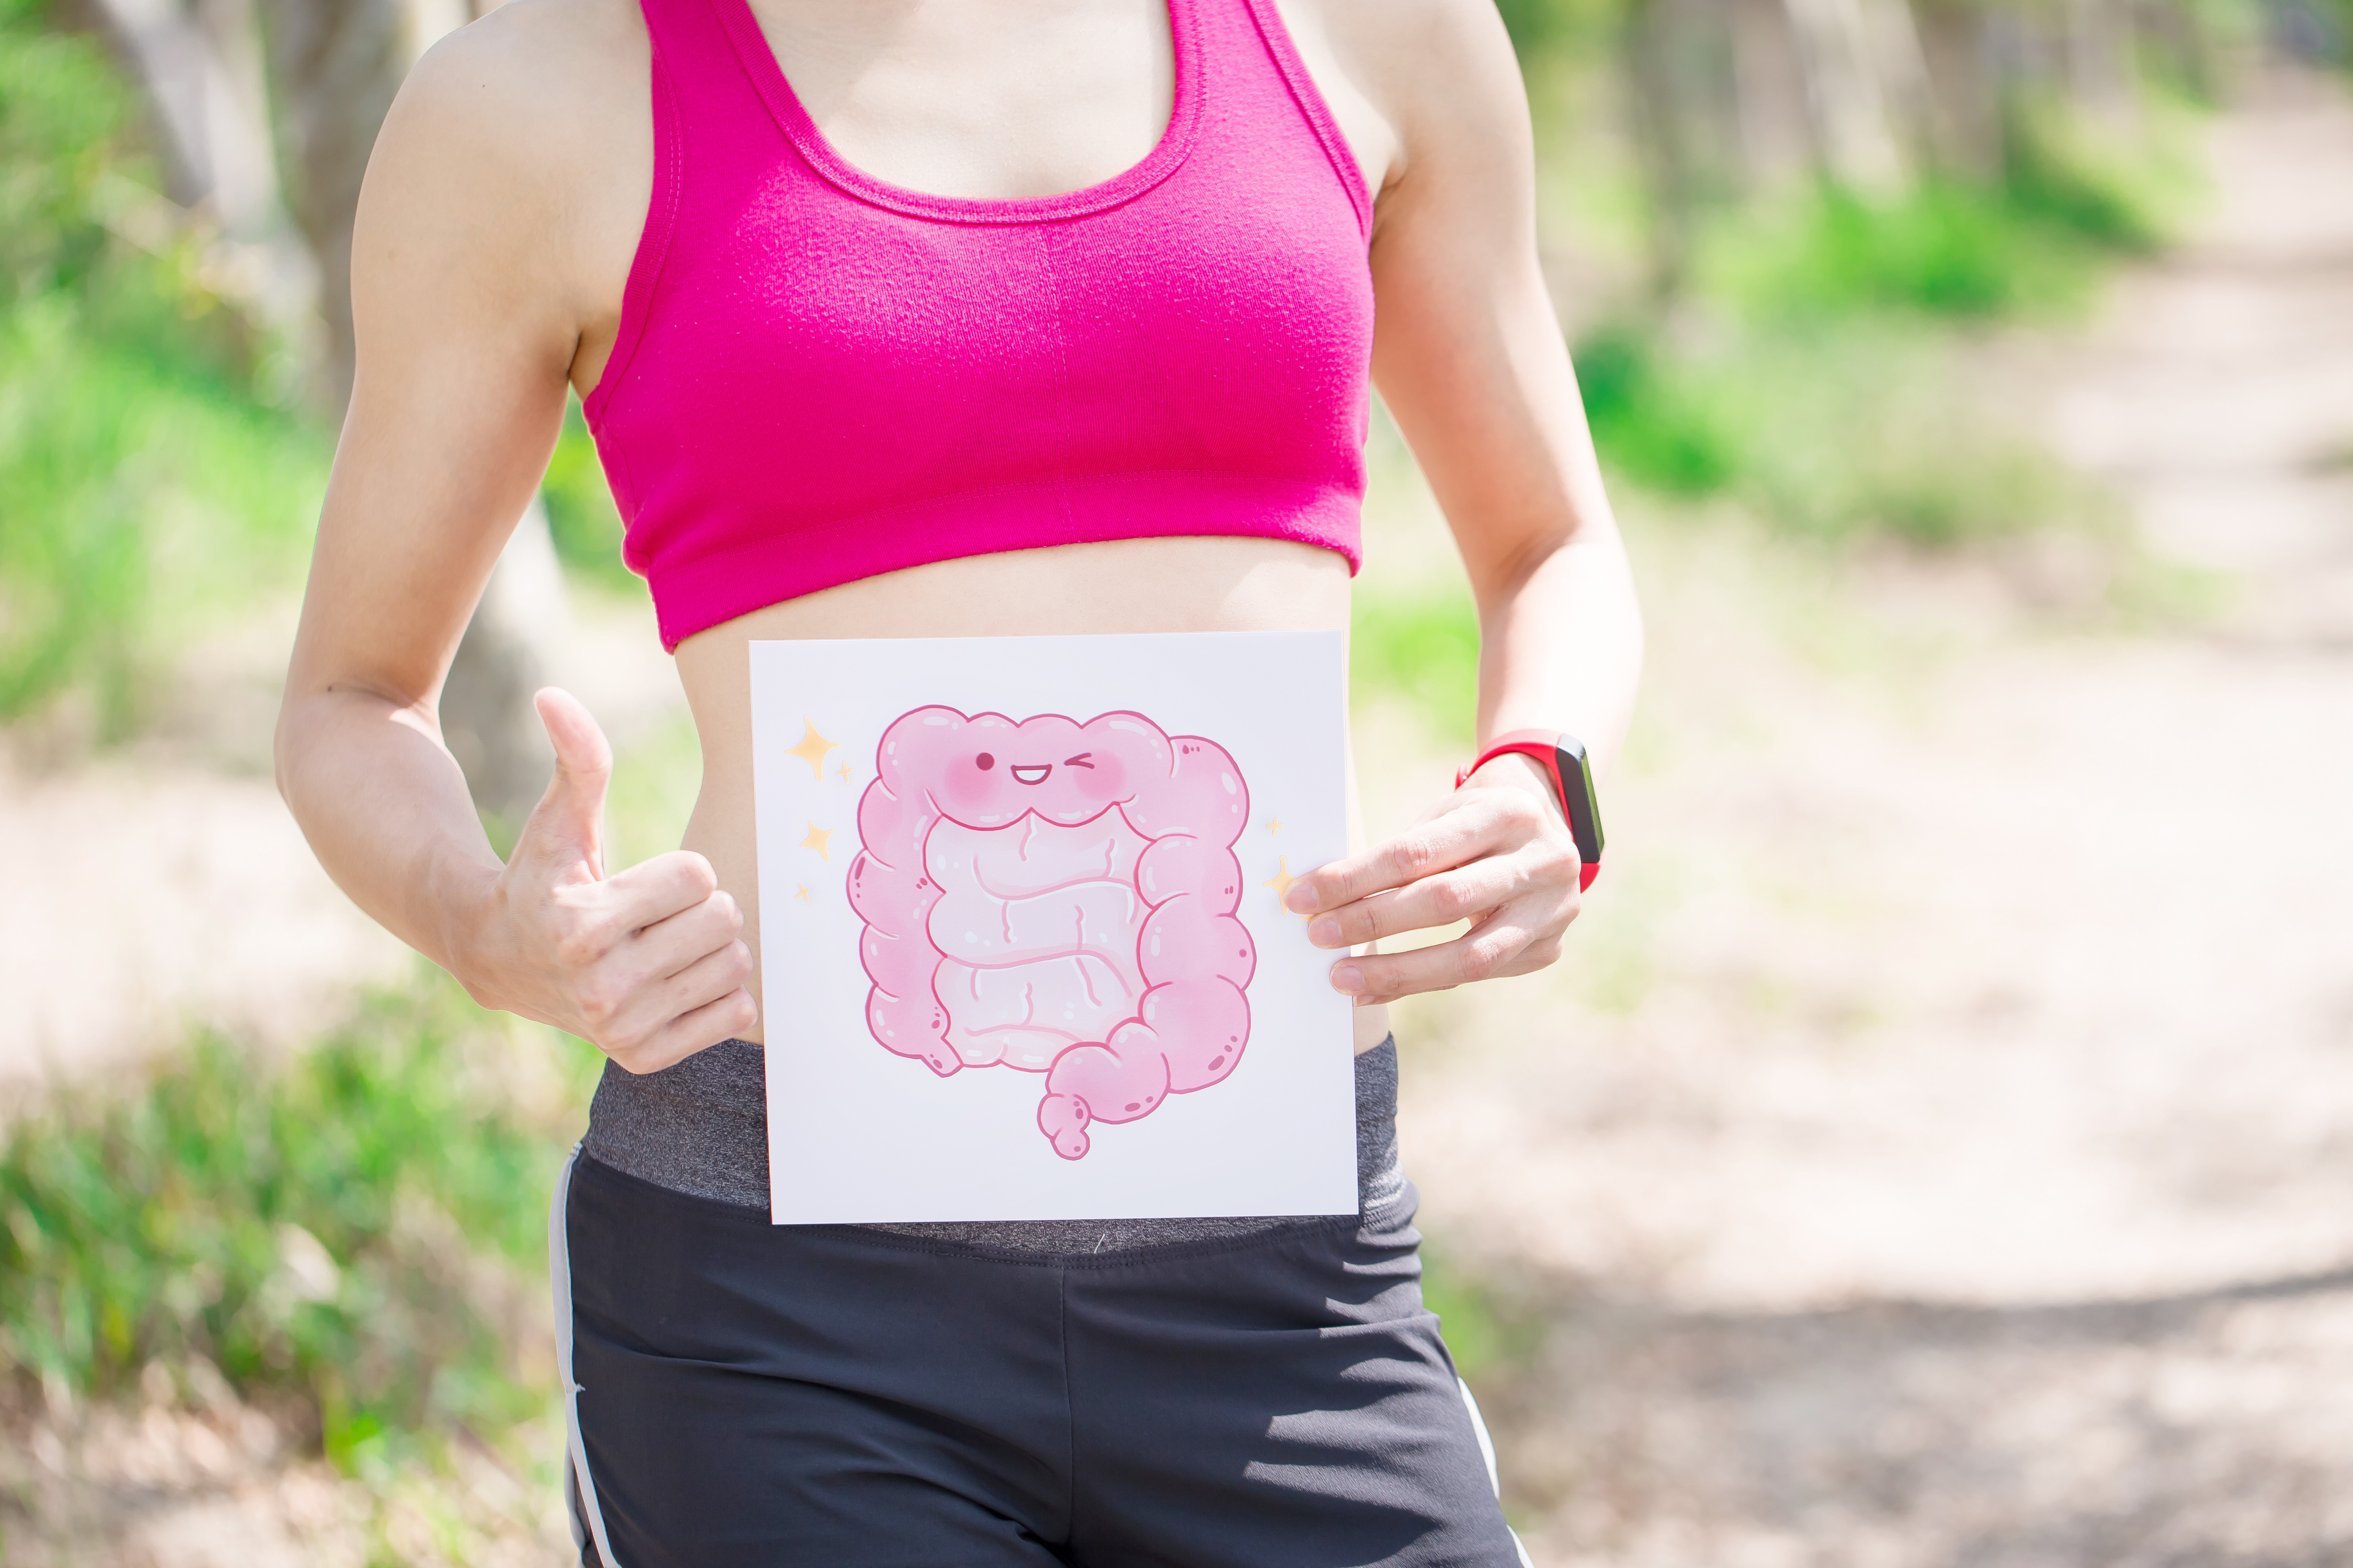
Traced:
<path fill-rule="evenodd" d="M 744 907 L 760 952 L 746 644 L 798 637 L 1073 637 L 1106 632 L 1297 632 L 1348 628 L 1348 562 L 1271 538 L 1129 538 L 932 562 L 739 616 L 678 644 L 704 748 L 685 846 Z M 1019 717 L 1019 715 L 1016 715 Z M 1360 844 L 1351 771 L 1348 839 Z M 760 976 L 751 992 L 760 997 Z M 765 1013 L 765 999 L 762 999 Z M 1388 1009 L 1355 1011 L 1355 1048 L 1388 1034 Z M 746 1039 L 760 1039 L 751 1030 Z"/>

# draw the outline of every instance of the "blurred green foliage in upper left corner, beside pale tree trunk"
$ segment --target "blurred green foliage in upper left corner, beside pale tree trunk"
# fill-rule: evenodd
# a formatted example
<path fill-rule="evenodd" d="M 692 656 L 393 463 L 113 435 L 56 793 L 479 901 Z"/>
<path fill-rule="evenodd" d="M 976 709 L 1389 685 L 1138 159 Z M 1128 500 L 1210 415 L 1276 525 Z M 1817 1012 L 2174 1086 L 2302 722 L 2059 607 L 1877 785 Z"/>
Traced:
<path fill-rule="evenodd" d="M 0 719 L 78 686 L 101 736 L 165 649 L 299 583 L 327 473 L 132 122 L 96 42 L 0 12 Z"/>

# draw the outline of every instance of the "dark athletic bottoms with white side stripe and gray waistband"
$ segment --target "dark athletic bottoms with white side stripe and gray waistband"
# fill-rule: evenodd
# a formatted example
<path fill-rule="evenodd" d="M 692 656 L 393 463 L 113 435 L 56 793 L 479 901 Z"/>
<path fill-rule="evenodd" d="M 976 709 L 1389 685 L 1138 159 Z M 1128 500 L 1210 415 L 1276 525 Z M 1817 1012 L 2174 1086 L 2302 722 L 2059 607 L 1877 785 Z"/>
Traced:
<path fill-rule="evenodd" d="M 779 1227 L 765 1140 L 758 1206 L 607 1159 L 682 1114 L 621 1095 L 727 1093 L 753 1051 L 685 1084 L 609 1070 L 605 1138 L 558 1185 L 591 1568 L 1527 1561 L 1421 1305 L 1391 1046 L 1358 1058 L 1379 1201 L 1348 1218 Z"/>

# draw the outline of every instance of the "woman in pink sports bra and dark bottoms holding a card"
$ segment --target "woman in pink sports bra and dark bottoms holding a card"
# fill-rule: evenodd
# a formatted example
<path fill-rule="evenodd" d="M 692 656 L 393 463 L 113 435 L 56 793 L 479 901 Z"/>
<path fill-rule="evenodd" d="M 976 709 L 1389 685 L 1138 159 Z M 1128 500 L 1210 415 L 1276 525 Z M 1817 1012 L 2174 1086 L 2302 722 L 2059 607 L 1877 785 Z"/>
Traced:
<path fill-rule="evenodd" d="M 1480 733 L 1614 745 L 1638 616 L 1487 0 L 515 0 L 402 89 L 353 299 L 280 785 L 362 907 L 612 1058 L 555 1215 L 584 1561 L 1518 1561 L 1384 1004 L 1558 957 L 1537 762 L 1287 898 L 1358 1001 L 1346 1220 L 769 1227 L 751 957 L 746 642 L 1344 628 L 1367 371 Z M 576 701 L 504 865 L 435 719 L 567 383 L 704 745 L 687 846 L 616 875 Z"/>

